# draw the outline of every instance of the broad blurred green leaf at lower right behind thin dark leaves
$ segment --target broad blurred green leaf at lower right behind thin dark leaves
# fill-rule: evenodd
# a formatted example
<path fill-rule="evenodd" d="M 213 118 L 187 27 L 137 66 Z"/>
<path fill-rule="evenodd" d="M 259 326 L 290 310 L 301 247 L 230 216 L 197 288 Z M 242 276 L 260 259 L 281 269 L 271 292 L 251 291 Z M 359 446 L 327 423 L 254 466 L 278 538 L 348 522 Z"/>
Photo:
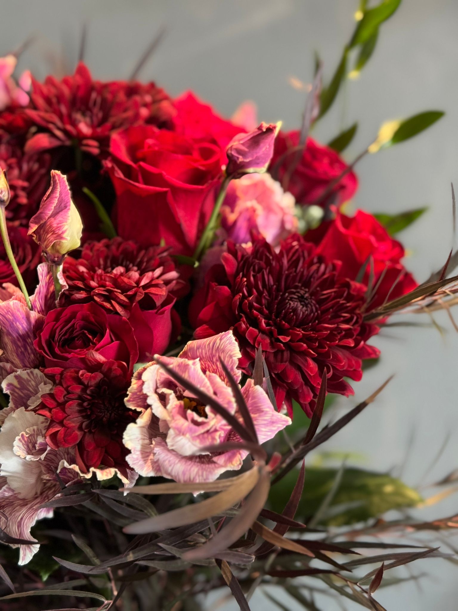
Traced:
<path fill-rule="evenodd" d="M 302 521 L 316 513 L 332 489 L 339 469 L 307 467 L 304 493 L 299 502 L 296 519 Z M 272 486 L 269 502 L 274 511 L 281 513 L 282 499 L 294 486 L 297 472 L 291 471 Z M 284 489 L 283 489 L 284 488 Z M 420 494 L 391 475 L 347 467 L 341 474 L 338 490 L 329 511 L 320 524 L 342 526 L 377 518 L 387 511 L 415 507 L 423 499 Z"/>

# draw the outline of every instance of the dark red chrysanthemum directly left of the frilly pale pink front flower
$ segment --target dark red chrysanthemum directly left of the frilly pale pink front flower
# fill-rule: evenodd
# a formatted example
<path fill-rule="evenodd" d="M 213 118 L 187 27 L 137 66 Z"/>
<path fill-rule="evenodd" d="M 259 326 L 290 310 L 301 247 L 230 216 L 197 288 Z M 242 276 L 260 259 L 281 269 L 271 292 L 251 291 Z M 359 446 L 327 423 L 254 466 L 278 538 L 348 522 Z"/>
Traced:
<path fill-rule="evenodd" d="M 54 383 L 53 392 L 42 395 L 36 410 L 49 418 L 48 444 L 54 448 L 75 447 L 82 472 L 90 467 L 115 467 L 126 475 L 127 453 L 122 437 L 138 414 L 124 404 L 129 387 L 126 365 L 106 360 L 91 370 L 43 370 Z"/>

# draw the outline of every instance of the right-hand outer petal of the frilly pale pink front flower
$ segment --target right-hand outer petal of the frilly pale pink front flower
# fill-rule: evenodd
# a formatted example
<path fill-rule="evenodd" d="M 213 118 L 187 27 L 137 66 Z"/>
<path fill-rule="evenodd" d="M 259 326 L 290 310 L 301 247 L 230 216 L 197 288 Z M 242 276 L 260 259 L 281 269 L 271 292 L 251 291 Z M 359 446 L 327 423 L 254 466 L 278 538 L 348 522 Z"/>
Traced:
<path fill-rule="evenodd" d="M 279 414 L 274 409 L 266 392 L 260 386 L 255 386 L 252 379 L 249 379 L 242 388 L 242 395 L 247 403 L 261 444 L 272 439 L 278 431 L 291 424 L 291 419 L 284 414 Z"/>

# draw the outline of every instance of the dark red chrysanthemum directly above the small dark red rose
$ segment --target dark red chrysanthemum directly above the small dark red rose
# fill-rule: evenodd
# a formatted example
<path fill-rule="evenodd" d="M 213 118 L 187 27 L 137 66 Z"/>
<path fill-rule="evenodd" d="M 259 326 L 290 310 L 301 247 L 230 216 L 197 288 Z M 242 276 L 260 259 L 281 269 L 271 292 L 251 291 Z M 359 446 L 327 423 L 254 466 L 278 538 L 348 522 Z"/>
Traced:
<path fill-rule="evenodd" d="M 79 259 L 67 257 L 64 276 L 68 289 L 62 304 L 95 301 L 109 313 L 128 317 L 136 303 L 142 310 L 158 308 L 176 288 L 178 272 L 169 249 L 113 238 L 87 242 Z"/>

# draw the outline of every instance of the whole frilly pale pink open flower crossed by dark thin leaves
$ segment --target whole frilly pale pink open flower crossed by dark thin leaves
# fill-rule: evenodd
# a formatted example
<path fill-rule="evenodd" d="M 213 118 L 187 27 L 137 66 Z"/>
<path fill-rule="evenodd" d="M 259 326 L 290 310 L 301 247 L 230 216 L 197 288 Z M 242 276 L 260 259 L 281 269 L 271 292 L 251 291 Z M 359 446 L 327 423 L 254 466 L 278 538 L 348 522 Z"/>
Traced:
<path fill-rule="evenodd" d="M 178 357 L 158 357 L 208 395 L 215 397 L 241 422 L 233 392 L 220 365 L 240 381 L 241 354 L 231 331 L 188 342 Z M 291 423 L 279 414 L 260 386 L 249 380 L 241 389 L 260 443 L 272 439 Z M 181 388 L 156 361 L 133 378 L 126 405 L 141 412 L 127 426 L 124 444 L 131 450 L 128 464 L 140 475 L 161 475 L 178 482 L 213 481 L 227 470 L 240 469 L 245 450 L 211 452 L 206 447 L 241 441 L 226 420 Z"/>

